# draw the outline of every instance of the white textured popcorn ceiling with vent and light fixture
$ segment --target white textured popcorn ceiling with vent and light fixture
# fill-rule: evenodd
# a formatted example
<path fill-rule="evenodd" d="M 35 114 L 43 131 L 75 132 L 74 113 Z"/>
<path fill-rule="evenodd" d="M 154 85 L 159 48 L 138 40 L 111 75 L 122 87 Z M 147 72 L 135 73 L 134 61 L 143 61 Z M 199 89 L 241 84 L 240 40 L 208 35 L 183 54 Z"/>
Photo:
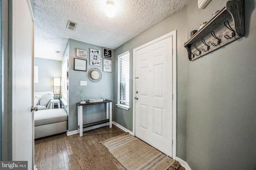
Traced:
<path fill-rule="evenodd" d="M 35 57 L 61 60 L 68 39 L 116 49 L 188 1 L 114 0 L 116 16 L 108 18 L 104 13 L 106 0 L 34 0 Z M 66 29 L 68 20 L 77 23 L 75 31 Z"/>

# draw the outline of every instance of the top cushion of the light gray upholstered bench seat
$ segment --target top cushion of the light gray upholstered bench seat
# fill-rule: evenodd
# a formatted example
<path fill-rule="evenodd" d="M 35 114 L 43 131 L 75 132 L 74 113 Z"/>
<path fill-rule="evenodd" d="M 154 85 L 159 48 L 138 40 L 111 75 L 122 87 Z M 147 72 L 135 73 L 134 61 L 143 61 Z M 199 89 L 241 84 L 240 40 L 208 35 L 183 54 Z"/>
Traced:
<path fill-rule="evenodd" d="M 34 126 L 47 125 L 67 120 L 68 114 L 63 108 L 38 110 L 34 112 Z"/>

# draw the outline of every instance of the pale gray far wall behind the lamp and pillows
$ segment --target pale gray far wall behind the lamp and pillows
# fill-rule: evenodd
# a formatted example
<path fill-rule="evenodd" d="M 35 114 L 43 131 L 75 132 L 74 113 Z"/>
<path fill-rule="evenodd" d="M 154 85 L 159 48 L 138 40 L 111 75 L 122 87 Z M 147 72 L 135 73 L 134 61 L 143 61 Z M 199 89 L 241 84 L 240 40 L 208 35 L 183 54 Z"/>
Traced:
<path fill-rule="evenodd" d="M 61 77 L 61 61 L 35 57 L 35 66 L 38 66 L 38 83 L 35 83 L 35 92 L 53 92 L 53 78 Z"/>

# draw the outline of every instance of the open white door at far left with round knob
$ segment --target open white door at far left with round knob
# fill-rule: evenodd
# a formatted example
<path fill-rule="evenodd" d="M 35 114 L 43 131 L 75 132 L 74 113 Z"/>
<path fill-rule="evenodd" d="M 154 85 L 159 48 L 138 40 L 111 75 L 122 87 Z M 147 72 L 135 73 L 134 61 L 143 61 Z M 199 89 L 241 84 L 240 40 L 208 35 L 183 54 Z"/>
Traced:
<path fill-rule="evenodd" d="M 30 1 L 12 1 L 12 160 L 28 161 L 28 170 L 34 169 L 33 114 L 30 112 L 33 96 L 33 21 Z"/>

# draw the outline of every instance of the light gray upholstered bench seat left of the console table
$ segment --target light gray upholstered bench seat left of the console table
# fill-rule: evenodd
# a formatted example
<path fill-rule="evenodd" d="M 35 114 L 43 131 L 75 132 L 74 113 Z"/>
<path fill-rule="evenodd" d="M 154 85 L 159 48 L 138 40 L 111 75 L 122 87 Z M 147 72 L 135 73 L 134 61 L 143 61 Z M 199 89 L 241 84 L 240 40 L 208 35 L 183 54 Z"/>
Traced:
<path fill-rule="evenodd" d="M 68 114 L 65 109 L 44 109 L 34 112 L 35 139 L 67 131 Z"/>

